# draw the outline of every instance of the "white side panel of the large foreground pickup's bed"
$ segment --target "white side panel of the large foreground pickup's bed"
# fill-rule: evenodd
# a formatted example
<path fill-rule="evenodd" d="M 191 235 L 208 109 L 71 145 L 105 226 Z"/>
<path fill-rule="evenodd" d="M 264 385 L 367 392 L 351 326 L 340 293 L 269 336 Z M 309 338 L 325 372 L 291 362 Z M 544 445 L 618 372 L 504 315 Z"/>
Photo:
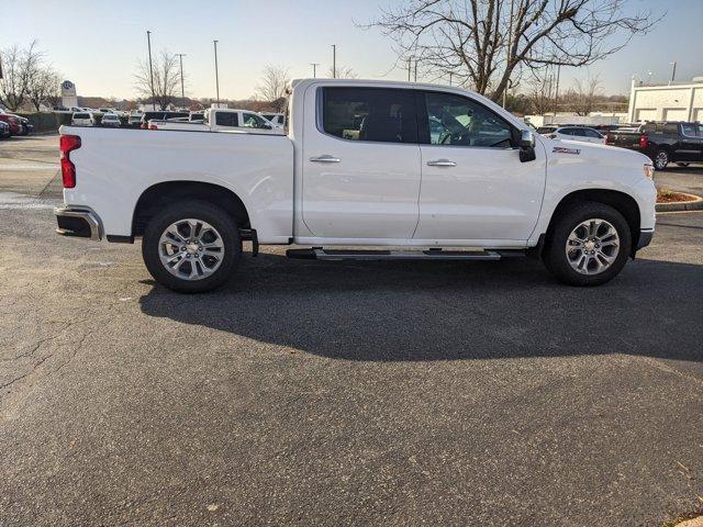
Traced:
<path fill-rule="evenodd" d="M 69 206 L 90 209 L 112 236 L 131 236 L 140 197 L 153 186 L 196 181 L 238 195 L 261 243 L 287 243 L 293 224 L 293 145 L 284 135 L 62 126 L 77 135 Z"/>

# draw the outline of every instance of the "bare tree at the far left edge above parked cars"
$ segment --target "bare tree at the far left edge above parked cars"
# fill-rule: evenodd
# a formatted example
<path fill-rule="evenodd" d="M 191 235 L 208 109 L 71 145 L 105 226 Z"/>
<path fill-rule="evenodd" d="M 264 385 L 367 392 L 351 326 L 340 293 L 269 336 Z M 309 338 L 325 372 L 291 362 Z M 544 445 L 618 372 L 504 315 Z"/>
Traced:
<path fill-rule="evenodd" d="M 38 70 L 43 59 L 36 41 L 26 47 L 15 44 L 0 52 L 2 79 L 0 79 L 0 102 L 10 110 L 18 110 L 27 99 L 27 88 L 32 76 Z"/>

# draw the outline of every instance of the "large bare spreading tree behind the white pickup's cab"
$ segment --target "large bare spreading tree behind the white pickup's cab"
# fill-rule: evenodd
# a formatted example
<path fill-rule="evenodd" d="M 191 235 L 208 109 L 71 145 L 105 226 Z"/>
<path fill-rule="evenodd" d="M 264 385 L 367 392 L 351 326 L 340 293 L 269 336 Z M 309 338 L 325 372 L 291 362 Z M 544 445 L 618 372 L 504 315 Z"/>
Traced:
<path fill-rule="evenodd" d="M 398 66 L 421 60 L 498 100 L 523 69 L 587 66 L 624 47 L 661 18 L 626 14 L 625 0 L 408 0 L 365 27 L 393 40 Z"/>

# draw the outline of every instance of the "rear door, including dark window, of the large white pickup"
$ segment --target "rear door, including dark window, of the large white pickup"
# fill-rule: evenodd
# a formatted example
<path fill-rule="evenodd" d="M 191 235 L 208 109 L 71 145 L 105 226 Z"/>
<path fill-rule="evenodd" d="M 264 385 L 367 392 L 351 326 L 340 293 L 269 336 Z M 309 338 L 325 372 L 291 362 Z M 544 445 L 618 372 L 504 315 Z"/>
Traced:
<path fill-rule="evenodd" d="M 322 238 L 406 243 L 420 197 L 414 91 L 323 85 L 305 105 L 316 115 L 304 122 L 308 228 Z"/>

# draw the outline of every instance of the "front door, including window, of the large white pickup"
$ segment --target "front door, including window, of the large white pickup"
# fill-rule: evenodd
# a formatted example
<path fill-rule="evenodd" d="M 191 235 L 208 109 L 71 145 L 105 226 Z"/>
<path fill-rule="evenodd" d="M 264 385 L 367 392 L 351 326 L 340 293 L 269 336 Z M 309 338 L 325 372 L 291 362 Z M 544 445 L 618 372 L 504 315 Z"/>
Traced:
<path fill-rule="evenodd" d="M 515 130 L 468 97 L 426 92 L 416 240 L 514 245 L 533 232 L 545 188 L 544 149 L 521 162 Z M 421 137 L 421 141 L 423 138 Z M 494 243 L 491 243 L 493 240 Z"/>

